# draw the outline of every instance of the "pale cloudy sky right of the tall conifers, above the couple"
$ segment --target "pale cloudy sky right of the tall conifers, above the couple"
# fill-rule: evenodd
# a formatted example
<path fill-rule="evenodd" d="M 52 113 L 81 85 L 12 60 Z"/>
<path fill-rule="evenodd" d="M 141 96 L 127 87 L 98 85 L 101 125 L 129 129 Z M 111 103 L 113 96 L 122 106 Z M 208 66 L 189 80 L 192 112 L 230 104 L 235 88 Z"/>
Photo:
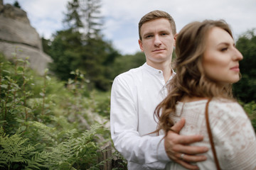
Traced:
<path fill-rule="evenodd" d="M 227 21 L 235 35 L 245 33 L 246 30 L 256 28 L 252 18 L 256 15 L 256 1 L 240 0 L 103 0 L 104 16 L 111 16 L 111 25 L 107 25 L 105 33 L 111 35 L 114 45 L 123 53 L 136 52 L 138 31 L 137 23 L 144 14 L 155 9 L 163 10 L 171 14 L 176 21 L 177 30 L 192 21 L 203 21 L 204 19 L 224 19 Z M 129 27 L 127 24 L 129 23 Z M 112 29 L 111 26 L 114 29 Z M 129 33 L 134 31 L 134 33 Z M 127 35 L 127 38 L 120 34 Z M 129 50 L 128 50 L 129 48 Z"/>

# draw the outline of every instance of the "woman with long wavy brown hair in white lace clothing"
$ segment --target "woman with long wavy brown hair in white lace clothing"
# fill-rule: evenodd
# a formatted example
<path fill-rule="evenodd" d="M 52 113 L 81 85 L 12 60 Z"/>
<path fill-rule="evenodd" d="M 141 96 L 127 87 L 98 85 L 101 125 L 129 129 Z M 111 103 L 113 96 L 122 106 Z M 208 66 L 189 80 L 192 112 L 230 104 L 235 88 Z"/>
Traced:
<path fill-rule="evenodd" d="M 241 53 L 235 48 L 225 21 L 193 22 L 176 39 L 176 76 L 169 83 L 169 95 L 157 106 L 158 132 L 167 133 L 181 118 L 186 125 L 181 135 L 204 136 L 194 145 L 210 148 L 206 128 L 206 103 L 210 129 L 221 169 L 256 169 L 256 138 L 249 118 L 233 99 L 231 84 L 240 79 Z M 200 169 L 216 169 L 210 149 Z M 180 154 L 183 161 L 189 155 Z M 166 169 L 184 169 L 174 162 Z"/>

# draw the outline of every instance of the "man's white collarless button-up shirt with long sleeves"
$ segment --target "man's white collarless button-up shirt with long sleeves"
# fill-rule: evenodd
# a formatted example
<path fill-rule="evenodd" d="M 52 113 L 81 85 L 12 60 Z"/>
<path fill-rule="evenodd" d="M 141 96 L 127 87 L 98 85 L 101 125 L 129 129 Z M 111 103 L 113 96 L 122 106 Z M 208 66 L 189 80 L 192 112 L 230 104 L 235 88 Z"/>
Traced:
<path fill-rule="evenodd" d="M 164 169 L 170 162 L 164 136 L 149 135 L 157 126 L 154 110 L 166 94 L 163 72 L 146 63 L 114 79 L 111 135 L 114 147 L 128 160 L 128 169 Z"/>

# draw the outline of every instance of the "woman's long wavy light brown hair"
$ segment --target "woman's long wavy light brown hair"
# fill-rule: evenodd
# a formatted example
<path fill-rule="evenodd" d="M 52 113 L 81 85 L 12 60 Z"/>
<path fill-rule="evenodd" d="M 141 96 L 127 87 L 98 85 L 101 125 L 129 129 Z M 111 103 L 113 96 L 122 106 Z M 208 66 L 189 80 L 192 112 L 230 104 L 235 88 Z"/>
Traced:
<path fill-rule="evenodd" d="M 231 84 L 219 85 L 208 79 L 203 70 L 202 58 L 206 50 L 206 39 L 209 30 L 218 27 L 227 31 L 233 38 L 232 32 L 225 21 L 206 20 L 186 25 L 176 38 L 176 75 L 168 84 L 169 94 L 156 107 L 154 115 L 159 120 L 159 130 L 168 132 L 174 125 L 169 116 L 175 113 L 177 101 L 185 96 L 203 98 L 233 98 Z"/>

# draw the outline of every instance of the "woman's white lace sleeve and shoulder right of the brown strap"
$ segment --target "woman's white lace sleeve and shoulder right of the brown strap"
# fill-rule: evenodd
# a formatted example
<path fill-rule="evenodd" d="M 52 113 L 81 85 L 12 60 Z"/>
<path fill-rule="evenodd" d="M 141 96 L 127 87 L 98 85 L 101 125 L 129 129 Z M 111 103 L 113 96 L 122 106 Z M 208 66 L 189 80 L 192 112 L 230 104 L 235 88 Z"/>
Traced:
<path fill-rule="evenodd" d="M 221 169 L 256 169 L 256 137 L 238 103 L 210 103 L 210 126 Z"/>

